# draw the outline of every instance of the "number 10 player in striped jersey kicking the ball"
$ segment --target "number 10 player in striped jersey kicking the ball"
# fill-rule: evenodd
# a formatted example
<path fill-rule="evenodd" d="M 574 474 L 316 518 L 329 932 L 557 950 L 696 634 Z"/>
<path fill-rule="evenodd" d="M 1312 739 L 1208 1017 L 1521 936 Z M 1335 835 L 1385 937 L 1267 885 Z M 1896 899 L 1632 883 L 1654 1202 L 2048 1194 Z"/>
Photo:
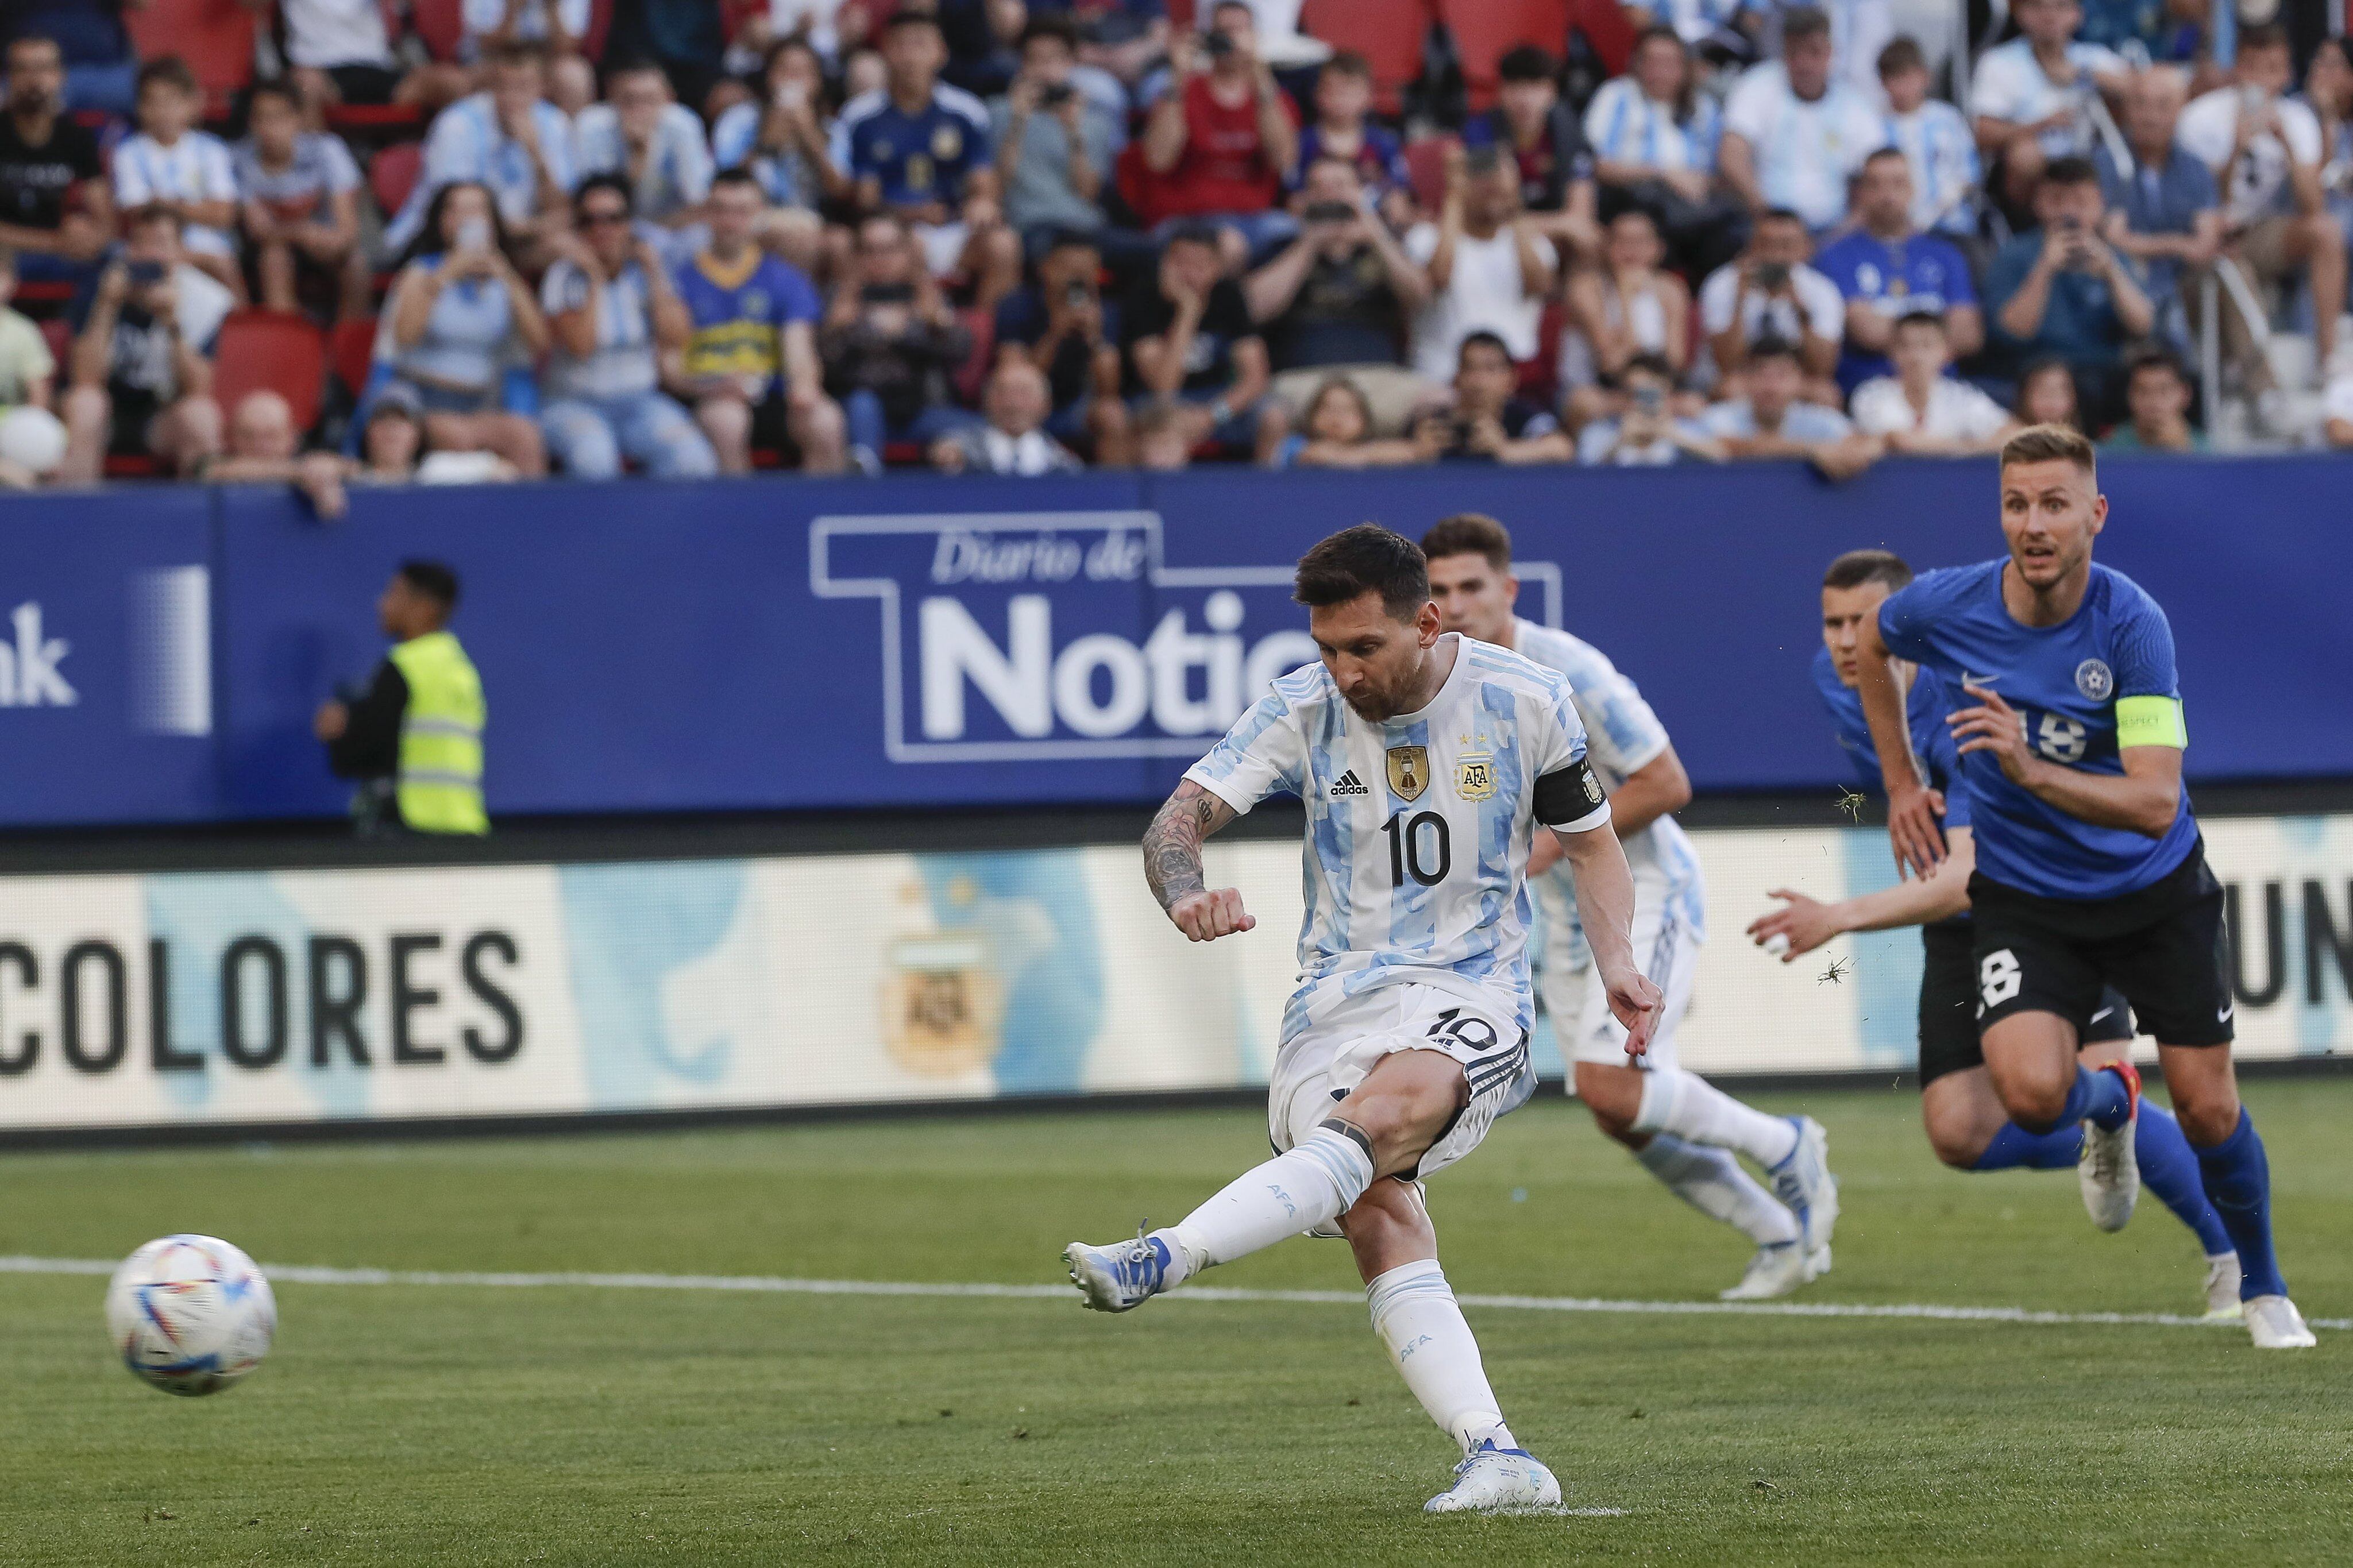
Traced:
<path fill-rule="evenodd" d="M 1301 985 L 1268 1098 L 1275 1159 L 1179 1225 L 1064 1251 L 1089 1307 L 1127 1312 L 1285 1237 L 1341 1234 L 1405 1387 L 1461 1443 L 1431 1512 L 1553 1507 L 1560 1483 L 1504 1425 L 1478 1342 L 1438 1267 L 1431 1175 L 1527 1103 L 1527 851 L 1555 827 L 1579 867 L 1609 1004 L 1640 1053 L 1659 987 L 1633 964 L 1633 879 L 1586 764 L 1567 682 L 1440 635 L 1412 541 L 1372 524 L 1299 562 L 1322 663 L 1294 670 L 1176 785 L 1144 835 L 1144 875 L 1195 943 L 1249 931 L 1202 882 L 1205 837 L 1275 792 L 1306 804 Z"/>

